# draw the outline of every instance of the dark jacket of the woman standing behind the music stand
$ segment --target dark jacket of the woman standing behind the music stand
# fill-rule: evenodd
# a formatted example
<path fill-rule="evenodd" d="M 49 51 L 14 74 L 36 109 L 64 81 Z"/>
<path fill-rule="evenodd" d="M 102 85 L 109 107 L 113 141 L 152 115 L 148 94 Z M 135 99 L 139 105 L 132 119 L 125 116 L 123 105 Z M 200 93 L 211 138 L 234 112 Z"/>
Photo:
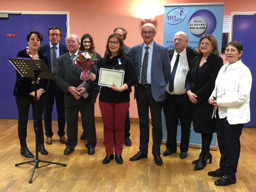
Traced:
<path fill-rule="evenodd" d="M 38 51 L 39 58 L 43 59 L 46 64 L 48 64 L 48 60 L 45 54 Z M 18 52 L 17 57 L 27 57 L 30 58 L 29 54 L 26 52 L 26 49 L 23 49 Z M 16 70 L 16 82 L 13 90 L 13 95 L 15 96 L 28 96 L 29 93 L 34 91 L 34 86 L 32 84 L 32 79 L 30 77 L 22 77 L 19 72 Z M 49 81 L 47 79 L 40 79 L 37 85 L 37 89 L 42 88 L 47 91 Z M 41 98 L 45 97 L 45 93 L 42 94 Z"/>

